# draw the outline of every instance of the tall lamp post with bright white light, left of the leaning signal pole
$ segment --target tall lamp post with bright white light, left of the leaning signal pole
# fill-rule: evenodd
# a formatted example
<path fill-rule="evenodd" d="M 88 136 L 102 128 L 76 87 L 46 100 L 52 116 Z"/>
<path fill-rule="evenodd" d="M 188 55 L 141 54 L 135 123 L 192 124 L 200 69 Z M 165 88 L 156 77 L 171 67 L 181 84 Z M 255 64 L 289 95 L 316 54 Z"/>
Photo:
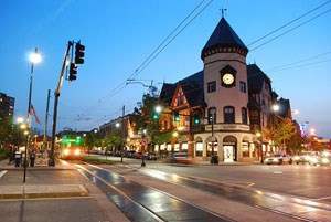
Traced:
<path fill-rule="evenodd" d="M 30 142 L 30 130 L 31 130 L 31 97 L 32 97 L 32 84 L 33 84 L 33 65 L 36 63 L 40 63 L 42 60 L 41 55 L 38 52 L 38 49 L 35 47 L 34 53 L 30 55 L 31 61 L 31 72 L 30 72 L 30 89 L 29 89 L 29 103 L 28 103 L 28 135 L 26 135 L 26 146 L 24 150 L 24 176 L 23 176 L 23 183 L 25 183 L 26 179 L 26 165 L 28 165 L 28 149 L 29 149 L 29 142 Z"/>

